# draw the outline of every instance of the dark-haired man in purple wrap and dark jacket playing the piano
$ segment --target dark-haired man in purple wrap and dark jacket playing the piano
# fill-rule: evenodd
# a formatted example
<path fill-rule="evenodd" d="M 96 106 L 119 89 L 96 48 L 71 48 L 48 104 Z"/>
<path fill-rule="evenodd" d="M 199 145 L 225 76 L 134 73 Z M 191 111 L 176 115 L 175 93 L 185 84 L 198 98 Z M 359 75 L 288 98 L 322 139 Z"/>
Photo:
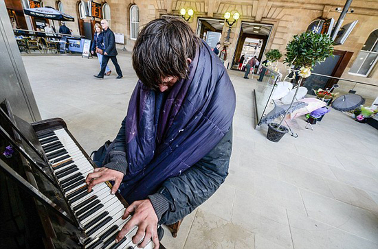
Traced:
<path fill-rule="evenodd" d="M 133 242 L 153 240 L 157 224 L 174 224 L 224 182 L 232 149 L 236 96 L 227 71 L 184 21 L 157 19 L 133 49 L 139 81 L 103 167 L 87 176 L 89 191 L 113 180 L 133 213 L 116 241 L 138 226 Z M 145 236 L 144 236 L 145 235 Z"/>

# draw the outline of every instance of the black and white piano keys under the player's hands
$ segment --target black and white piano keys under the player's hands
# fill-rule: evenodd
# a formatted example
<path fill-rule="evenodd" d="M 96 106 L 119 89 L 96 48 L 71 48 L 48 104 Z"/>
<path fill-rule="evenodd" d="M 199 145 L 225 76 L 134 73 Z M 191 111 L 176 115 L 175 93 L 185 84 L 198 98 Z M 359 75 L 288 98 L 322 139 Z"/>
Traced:
<path fill-rule="evenodd" d="M 93 172 L 93 166 L 66 130 L 60 129 L 39 134 L 38 140 L 49 163 L 52 164 L 54 174 L 72 211 L 88 236 L 83 241 L 85 248 L 137 248 L 137 244 L 133 244 L 132 241 L 132 237 L 137 232 L 137 226 L 118 244 L 115 244 L 115 236 L 130 220 L 131 215 L 126 220 L 122 220 L 124 205 L 117 196 L 110 194 L 107 184 L 98 184 L 90 193 L 87 192 L 85 178 Z M 154 244 L 150 240 L 144 248 L 152 249 L 153 247 Z"/>

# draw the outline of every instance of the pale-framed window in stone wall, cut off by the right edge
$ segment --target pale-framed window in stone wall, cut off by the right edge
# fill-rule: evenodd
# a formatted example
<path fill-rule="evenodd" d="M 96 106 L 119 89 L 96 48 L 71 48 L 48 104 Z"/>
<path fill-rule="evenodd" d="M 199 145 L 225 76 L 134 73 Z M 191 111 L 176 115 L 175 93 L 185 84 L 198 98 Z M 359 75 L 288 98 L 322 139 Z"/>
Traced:
<path fill-rule="evenodd" d="M 355 62 L 353 62 L 349 73 L 353 75 L 368 77 L 377 60 L 378 29 L 375 29 L 375 31 L 373 31 L 368 37 L 368 40 L 366 40 L 366 43 L 362 47 L 361 51 L 359 51 L 359 54 L 355 59 Z"/>

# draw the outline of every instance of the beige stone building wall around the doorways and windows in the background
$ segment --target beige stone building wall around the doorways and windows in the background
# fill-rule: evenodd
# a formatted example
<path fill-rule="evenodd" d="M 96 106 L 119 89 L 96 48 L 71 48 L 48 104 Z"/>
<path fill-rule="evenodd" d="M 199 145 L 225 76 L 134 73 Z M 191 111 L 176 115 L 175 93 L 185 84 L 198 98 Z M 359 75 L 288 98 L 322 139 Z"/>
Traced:
<path fill-rule="evenodd" d="M 74 34 L 78 34 L 77 1 L 62 0 L 62 2 L 65 12 L 76 18 L 74 23 L 67 23 L 67 26 L 74 31 Z M 201 17 L 223 19 L 225 12 L 237 10 L 241 13 L 241 19 L 232 27 L 230 43 L 227 44 L 229 47 L 227 57 L 232 59 L 242 21 L 273 25 L 266 49 L 279 49 L 282 54 L 285 54 L 285 47 L 291 37 L 294 34 L 304 32 L 314 19 L 333 17 L 337 20 L 340 13 L 335 12 L 335 8 L 342 7 L 345 0 L 107 0 L 106 2 L 109 3 L 111 8 L 111 29 L 114 32 L 125 34 L 126 49 L 129 51 L 132 50 L 135 42 L 130 39 L 129 24 L 129 10 L 133 4 L 138 5 L 140 10 L 140 28 L 148 21 L 159 18 L 162 14 L 179 15 L 181 8 L 191 7 L 194 10 L 194 16 L 188 23 L 192 29 L 196 30 L 197 21 Z M 55 1 L 45 0 L 45 5 L 55 6 Z M 351 64 L 353 64 L 370 32 L 378 28 L 378 1 L 354 0 L 351 7 L 355 12 L 347 14 L 344 23 L 355 20 L 359 20 L 359 23 L 357 23 L 346 43 L 335 47 L 339 50 L 354 52 L 343 78 L 378 85 L 378 69 L 374 69 L 368 78 L 348 74 Z M 224 25 L 223 39 L 227 36 L 227 30 L 227 25 Z M 285 68 L 282 64 L 279 67 L 281 71 Z"/>

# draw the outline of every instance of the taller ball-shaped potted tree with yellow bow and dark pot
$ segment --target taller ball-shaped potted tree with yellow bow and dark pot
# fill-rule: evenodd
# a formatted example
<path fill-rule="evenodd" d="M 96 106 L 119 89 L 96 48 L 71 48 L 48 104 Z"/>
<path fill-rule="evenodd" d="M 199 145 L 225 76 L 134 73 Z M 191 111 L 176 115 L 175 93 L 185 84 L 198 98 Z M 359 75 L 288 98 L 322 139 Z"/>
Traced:
<path fill-rule="evenodd" d="M 289 132 L 285 126 L 282 126 L 282 121 L 284 121 L 291 106 L 293 106 L 299 86 L 302 84 L 302 79 L 311 75 L 311 70 L 316 63 L 320 64 L 320 62 L 324 62 L 329 56 L 333 56 L 333 40 L 326 34 L 317 34 L 314 32 L 297 34 L 293 36 L 293 39 L 287 44 L 285 56 L 284 63 L 290 64 L 289 70 L 291 70 L 291 66 L 294 66 L 295 69 L 299 69 L 293 70 L 293 75 L 298 73 L 299 78 L 291 104 L 289 108 L 287 108 L 280 123 L 268 124 L 267 139 L 274 142 L 280 141 L 280 139 Z M 290 73 L 288 75 L 290 75 Z"/>

